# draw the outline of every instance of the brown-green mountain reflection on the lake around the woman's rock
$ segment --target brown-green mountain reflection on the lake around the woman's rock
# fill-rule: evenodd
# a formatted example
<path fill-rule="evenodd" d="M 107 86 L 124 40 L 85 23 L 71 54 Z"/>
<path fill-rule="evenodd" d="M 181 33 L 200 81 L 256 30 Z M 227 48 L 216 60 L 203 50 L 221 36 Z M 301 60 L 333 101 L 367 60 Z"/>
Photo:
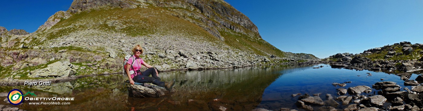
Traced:
<path fill-rule="evenodd" d="M 70 105 L 29 105 L 25 100 L 16 107 L 29 111 L 85 111 L 85 110 L 213 110 L 221 107 L 230 110 L 251 110 L 262 99 L 264 89 L 282 73 L 280 70 L 304 68 L 297 65 L 272 65 L 238 69 L 173 71 L 160 73 L 163 80 L 175 78 L 176 92 L 159 98 L 133 98 L 123 81 L 126 76 L 92 76 L 73 81 L 53 83 L 51 86 L 0 87 L 1 92 L 20 89 L 33 92 L 36 97 L 75 97 Z M 308 66 L 307 68 L 310 68 Z M 28 96 L 30 97 L 30 96 Z M 2 97 L 1 99 L 5 99 Z M 58 102 L 58 101 L 55 101 Z M 2 102 L 1 104 L 10 105 Z"/>

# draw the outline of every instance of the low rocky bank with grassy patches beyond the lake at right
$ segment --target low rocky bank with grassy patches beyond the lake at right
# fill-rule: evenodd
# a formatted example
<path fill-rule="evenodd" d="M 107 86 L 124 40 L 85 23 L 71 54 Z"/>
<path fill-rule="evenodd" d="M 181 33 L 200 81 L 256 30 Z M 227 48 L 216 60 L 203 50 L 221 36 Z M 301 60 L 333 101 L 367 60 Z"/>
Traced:
<path fill-rule="evenodd" d="M 360 54 L 339 53 L 328 57 L 332 67 L 356 70 L 382 70 L 399 73 L 421 70 L 423 67 L 423 44 L 400 42 L 374 49 Z M 411 76 L 411 75 L 410 75 Z"/>

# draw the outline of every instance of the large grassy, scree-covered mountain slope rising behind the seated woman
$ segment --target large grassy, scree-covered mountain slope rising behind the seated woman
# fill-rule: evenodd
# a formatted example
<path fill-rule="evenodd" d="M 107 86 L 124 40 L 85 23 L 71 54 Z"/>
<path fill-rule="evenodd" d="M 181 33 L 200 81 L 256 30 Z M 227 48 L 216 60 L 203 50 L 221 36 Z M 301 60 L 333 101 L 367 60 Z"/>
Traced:
<path fill-rule="evenodd" d="M 317 59 L 275 48 L 222 0 L 74 0 L 36 32 L 0 37 L 0 77 L 21 79 L 120 72 L 136 43 L 162 71 Z"/>

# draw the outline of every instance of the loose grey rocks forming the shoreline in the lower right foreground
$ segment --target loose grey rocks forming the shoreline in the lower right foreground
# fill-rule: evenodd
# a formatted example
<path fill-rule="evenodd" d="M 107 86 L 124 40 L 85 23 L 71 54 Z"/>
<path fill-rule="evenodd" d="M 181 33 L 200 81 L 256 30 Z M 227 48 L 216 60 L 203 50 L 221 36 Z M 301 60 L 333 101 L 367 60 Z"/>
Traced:
<path fill-rule="evenodd" d="M 420 76 L 421 77 L 421 76 Z M 417 82 L 416 82 L 417 83 Z M 372 87 L 368 86 L 338 88 L 338 97 L 326 94 L 326 100 L 322 100 L 318 94 L 294 94 L 298 97 L 295 105 L 306 111 L 421 111 L 423 110 L 423 87 L 421 84 L 413 85 L 411 90 L 400 91 L 401 87 L 395 82 L 377 82 Z M 373 93 L 372 93 L 373 92 Z M 364 93 L 364 94 L 363 94 Z M 377 94 L 377 95 L 376 95 Z M 338 102 L 339 103 L 338 103 Z M 340 104 L 341 103 L 341 104 Z M 282 111 L 297 111 L 290 108 L 282 108 Z"/>

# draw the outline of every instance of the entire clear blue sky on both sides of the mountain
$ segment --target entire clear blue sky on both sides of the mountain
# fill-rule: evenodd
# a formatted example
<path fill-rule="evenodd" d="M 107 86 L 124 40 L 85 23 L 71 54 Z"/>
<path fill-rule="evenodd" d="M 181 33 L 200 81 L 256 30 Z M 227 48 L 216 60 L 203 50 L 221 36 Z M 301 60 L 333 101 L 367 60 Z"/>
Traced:
<path fill-rule="evenodd" d="M 262 38 L 282 51 L 361 53 L 388 44 L 423 43 L 421 0 L 225 0 L 248 16 Z M 72 0 L 6 0 L 0 26 L 34 32 Z"/>

